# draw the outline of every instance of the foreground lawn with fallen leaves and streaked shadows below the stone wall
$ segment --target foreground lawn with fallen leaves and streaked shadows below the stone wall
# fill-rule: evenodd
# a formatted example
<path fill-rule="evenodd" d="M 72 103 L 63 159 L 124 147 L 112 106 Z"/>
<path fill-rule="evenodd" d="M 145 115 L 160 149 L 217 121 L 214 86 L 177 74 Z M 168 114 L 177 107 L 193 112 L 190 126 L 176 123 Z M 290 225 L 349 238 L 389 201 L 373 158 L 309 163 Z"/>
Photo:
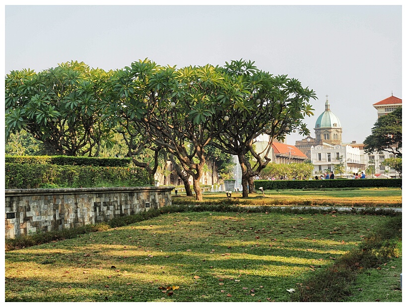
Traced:
<path fill-rule="evenodd" d="M 336 212 L 163 214 L 5 252 L 5 301 L 289 302 L 287 289 L 357 248 L 389 218 Z M 389 274 L 388 289 L 400 287 L 401 261 L 376 271 Z M 377 299 L 401 302 L 402 294 L 363 297 Z"/>

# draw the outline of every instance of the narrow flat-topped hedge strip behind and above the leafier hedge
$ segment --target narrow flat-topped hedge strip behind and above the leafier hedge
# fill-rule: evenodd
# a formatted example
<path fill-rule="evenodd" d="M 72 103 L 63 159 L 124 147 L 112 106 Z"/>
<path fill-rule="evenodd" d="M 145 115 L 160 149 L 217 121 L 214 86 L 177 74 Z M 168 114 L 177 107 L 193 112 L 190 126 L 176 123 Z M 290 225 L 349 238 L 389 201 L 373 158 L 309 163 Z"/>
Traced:
<path fill-rule="evenodd" d="M 6 163 L 18 164 L 57 164 L 57 165 L 88 165 L 88 166 L 109 166 L 127 167 L 131 165 L 131 158 L 95 158 L 86 156 L 66 156 L 66 155 L 6 155 Z"/>

